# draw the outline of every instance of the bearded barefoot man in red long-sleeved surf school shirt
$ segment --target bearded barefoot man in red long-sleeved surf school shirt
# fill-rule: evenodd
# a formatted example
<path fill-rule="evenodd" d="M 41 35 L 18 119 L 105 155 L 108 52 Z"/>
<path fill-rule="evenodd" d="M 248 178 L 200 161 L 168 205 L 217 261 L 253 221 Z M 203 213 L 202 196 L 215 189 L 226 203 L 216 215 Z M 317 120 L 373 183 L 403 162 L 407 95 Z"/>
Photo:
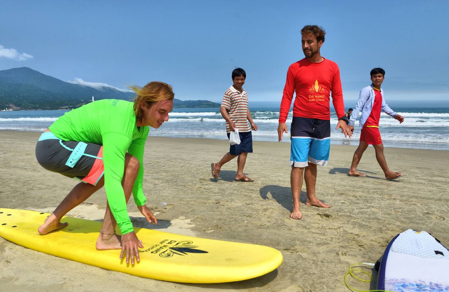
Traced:
<path fill-rule="evenodd" d="M 330 208 L 315 196 L 317 164 L 326 166 L 330 151 L 330 92 L 345 137 L 351 137 L 344 114 L 343 92 L 338 65 L 321 57 L 320 48 L 326 32 L 321 26 L 307 25 L 301 30 L 305 58 L 290 65 L 282 95 L 277 134 L 279 141 L 287 133 L 286 119 L 293 93 L 296 92 L 291 122 L 291 194 L 293 209 L 290 217 L 301 219 L 299 196 L 306 182 L 306 205 Z"/>

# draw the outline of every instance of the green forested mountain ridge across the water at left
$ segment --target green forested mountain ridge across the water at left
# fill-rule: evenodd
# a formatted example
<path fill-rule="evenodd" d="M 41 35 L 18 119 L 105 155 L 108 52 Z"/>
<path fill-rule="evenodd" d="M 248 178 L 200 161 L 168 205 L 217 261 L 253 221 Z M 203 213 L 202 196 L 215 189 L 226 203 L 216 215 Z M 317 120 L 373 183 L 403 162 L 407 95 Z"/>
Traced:
<path fill-rule="evenodd" d="M 132 100 L 133 92 L 121 92 L 114 88 L 92 87 L 64 82 L 31 68 L 21 67 L 0 70 L 0 109 L 59 109 L 63 106 L 78 107 L 95 97 L 95 100 L 114 98 Z M 175 99 L 175 108 L 220 107 L 207 100 L 182 101 Z"/>

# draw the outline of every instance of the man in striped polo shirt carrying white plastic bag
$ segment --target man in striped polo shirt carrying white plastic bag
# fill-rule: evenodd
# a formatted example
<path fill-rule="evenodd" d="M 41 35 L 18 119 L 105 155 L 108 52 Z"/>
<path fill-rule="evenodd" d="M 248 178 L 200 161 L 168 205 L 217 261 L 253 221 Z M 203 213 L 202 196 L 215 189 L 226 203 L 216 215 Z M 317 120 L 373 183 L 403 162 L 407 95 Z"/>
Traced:
<path fill-rule="evenodd" d="M 228 88 L 223 96 L 220 113 L 226 121 L 226 134 L 228 135 L 228 139 L 230 133 L 238 129 L 241 142 L 240 144 L 230 145 L 229 152 L 220 161 L 211 164 L 212 176 L 218 181 L 221 166 L 233 158 L 238 157 L 235 180 L 239 182 L 253 182 L 254 179 L 250 179 L 243 174 L 247 155 L 253 152 L 251 129 L 257 131 L 257 125 L 253 122 L 250 109 L 248 108 L 248 94 L 242 87 L 245 84 L 247 73 L 242 68 L 236 68 L 232 71 L 231 77 L 233 85 Z M 251 128 L 248 125 L 248 121 L 250 122 Z"/>

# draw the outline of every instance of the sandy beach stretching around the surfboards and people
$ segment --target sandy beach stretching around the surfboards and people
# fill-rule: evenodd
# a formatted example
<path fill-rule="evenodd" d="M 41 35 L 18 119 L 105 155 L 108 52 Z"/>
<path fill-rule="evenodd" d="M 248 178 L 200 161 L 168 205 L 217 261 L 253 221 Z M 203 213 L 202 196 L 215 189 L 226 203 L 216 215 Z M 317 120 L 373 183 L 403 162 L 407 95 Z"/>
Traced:
<path fill-rule="evenodd" d="M 52 212 L 76 184 L 37 163 L 39 135 L 0 131 L 1 207 Z M 376 262 L 406 229 L 425 230 L 449 245 L 448 151 L 385 148 L 390 169 L 405 174 L 386 181 L 372 147 L 358 168 L 368 178 L 352 178 L 346 173 L 355 147 L 332 145 L 329 165 L 318 167 L 317 176 L 317 197 L 332 207 L 301 204 L 303 219 L 294 220 L 289 218 L 289 143 L 254 142 L 244 171 L 253 183 L 234 182 L 237 160 L 223 166 L 218 182 L 212 179 L 210 164 L 229 151 L 226 140 L 149 137 L 145 147 L 144 192 L 159 224 L 146 223 L 130 200 L 135 226 L 271 246 L 282 253 L 282 265 L 241 282 L 170 283 L 53 257 L 0 238 L 2 290 L 339 292 L 348 291 L 343 276 L 349 266 Z M 305 198 L 304 185 L 302 203 Z M 68 215 L 98 220 L 105 205 L 100 190 Z M 367 271 L 377 279 L 374 269 Z M 375 282 L 350 280 L 361 290 L 375 289 Z"/>

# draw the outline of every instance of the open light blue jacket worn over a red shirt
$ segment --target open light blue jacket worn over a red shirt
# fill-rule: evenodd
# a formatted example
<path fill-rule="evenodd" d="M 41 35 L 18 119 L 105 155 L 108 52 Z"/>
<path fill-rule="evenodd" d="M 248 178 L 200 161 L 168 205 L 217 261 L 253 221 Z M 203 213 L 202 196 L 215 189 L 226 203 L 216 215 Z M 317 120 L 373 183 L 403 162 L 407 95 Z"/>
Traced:
<path fill-rule="evenodd" d="M 385 103 L 385 98 L 383 97 L 383 90 L 380 88 L 380 94 L 382 95 L 382 111 L 393 118 L 396 118 L 397 113 L 390 109 L 390 107 Z M 362 88 L 360 91 L 359 99 L 357 100 L 356 108 L 349 119 L 348 126 L 354 126 L 354 123 L 359 116 L 359 113 L 362 112 L 360 116 L 360 128 L 363 128 L 366 120 L 370 117 L 371 110 L 373 109 L 374 104 L 374 89 L 373 83 L 370 86 Z"/>

